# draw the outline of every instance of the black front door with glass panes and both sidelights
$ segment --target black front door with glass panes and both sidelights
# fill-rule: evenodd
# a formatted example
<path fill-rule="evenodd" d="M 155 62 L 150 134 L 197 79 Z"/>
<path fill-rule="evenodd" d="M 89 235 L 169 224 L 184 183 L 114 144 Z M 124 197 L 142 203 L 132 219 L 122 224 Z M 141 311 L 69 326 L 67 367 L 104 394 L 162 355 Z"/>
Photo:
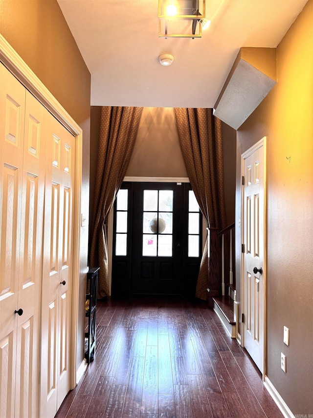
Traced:
<path fill-rule="evenodd" d="M 112 294 L 194 293 L 201 221 L 189 183 L 124 183 L 115 205 Z"/>

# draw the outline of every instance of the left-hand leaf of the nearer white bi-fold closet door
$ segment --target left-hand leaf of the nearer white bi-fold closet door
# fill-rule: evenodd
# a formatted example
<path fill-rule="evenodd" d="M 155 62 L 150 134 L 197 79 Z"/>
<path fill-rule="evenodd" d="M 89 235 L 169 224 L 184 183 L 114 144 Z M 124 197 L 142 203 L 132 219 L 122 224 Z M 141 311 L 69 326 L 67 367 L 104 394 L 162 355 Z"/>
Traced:
<path fill-rule="evenodd" d="M 25 89 L 3 65 L 0 80 L 0 417 L 13 417 Z"/>

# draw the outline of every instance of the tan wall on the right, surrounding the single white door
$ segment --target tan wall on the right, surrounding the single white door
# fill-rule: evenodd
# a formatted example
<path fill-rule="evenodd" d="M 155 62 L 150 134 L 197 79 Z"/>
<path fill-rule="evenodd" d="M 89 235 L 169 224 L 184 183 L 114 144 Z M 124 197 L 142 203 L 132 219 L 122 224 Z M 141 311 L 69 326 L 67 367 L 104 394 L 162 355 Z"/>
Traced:
<path fill-rule="evenodd" d="M 266 374 L 293 414 L 313 414 L 313 0 L 277 48 L 277 85 L 237 133 L 240 156 L 268 137 Z M 240 237 L 236 231 L 236 270 Z M 238 276 L 239 277 L 239 276 Z M 283 326 L 290 345 L 283 343 Z M 287 373 L 280 368 L 286 355 Z"/>

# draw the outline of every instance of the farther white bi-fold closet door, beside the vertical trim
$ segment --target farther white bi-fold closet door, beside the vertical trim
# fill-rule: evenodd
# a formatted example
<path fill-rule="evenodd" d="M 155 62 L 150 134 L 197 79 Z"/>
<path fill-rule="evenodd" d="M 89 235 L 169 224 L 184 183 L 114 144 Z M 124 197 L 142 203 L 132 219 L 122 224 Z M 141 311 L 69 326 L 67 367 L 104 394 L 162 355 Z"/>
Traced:
<path fill-rule="evenodd" d="M 40 416 L 54 417 L 69 391 L 74 137 L 47 126 Z"/>

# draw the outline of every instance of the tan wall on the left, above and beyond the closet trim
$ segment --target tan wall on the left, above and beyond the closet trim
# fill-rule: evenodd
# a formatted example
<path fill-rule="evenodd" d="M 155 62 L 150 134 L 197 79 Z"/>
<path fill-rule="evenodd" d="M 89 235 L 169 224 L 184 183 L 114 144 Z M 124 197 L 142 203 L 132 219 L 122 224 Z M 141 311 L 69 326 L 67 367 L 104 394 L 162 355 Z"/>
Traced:
<path fill-rule="evenodd" d="M 82 212 L 89 213 L 90 74 L 56 0 L 0 0 L 0 33 L 83 129 Z M 88 228 L 81 229 L 80 303 L 85 304 Z M 84 310 L 77 364 L 84 356 Z"/>

